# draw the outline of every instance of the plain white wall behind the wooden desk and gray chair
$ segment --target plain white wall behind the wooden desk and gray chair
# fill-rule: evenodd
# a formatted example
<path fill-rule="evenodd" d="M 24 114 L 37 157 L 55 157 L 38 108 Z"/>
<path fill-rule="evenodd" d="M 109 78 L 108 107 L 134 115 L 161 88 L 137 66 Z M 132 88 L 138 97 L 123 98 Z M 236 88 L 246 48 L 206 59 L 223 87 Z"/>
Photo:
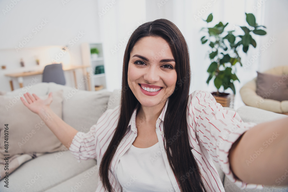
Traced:
<path fill-rule="evenodd" d="M 9 79 L 3 74 L 37 68 L 35 57 L 39 58 L 43 67 L 52 63 L 51 60 L 60 53 L 62 46 L 69 45 L 70 59 L 68 62 L 80 65 L 82 64 L 80 44 L 100 41 L 97 2 L 95 0 L 69 1 L 67 3 L 63 3 L 65 0 L 16 2 L 17 4 L 13 6 L 10 0 L 0 1 L 0 66 L 6 65 L 6 70 L 0 70 L 0 90 L 10 91 Z M 9 10 L 7 6 L 12 8 Z M 9 11 L 3 12 L 3 9 Z M 46 23 L 43 20 L 46 20 Z M 36 31 L 35 27 L 38 28 L 38 26 L 41 29 Z M 77 40 L 75 37 L 79 31 L 85 34 L 77 42 L 72 43 L 71 39 Z M 33 38 L 29 38 L 28 41 L 29 35 L 32 35 L 30 37 Z M 19 47 L 19 42 L 22 41 L 28 42 L 17 52 L 15 47 Z M 55 50 L 57 47 L 58 50 Z M 24 68 L 20 67 L 21 58 L 25 63 Z M 37 77 L 41 82 L 41 75 Z M 65 72 L 65 77 L 66 85 L 74 86 L 72 72 Z M 82 70 L 77 70 L 78 82 L 81 82 L 80 78 L 82 77 Z M 24 78 L 24 85 L 30 82 L 31 77 Z M 13 83 L 14 88 L 19 87 L 17 79 L 13 79 Z"/>

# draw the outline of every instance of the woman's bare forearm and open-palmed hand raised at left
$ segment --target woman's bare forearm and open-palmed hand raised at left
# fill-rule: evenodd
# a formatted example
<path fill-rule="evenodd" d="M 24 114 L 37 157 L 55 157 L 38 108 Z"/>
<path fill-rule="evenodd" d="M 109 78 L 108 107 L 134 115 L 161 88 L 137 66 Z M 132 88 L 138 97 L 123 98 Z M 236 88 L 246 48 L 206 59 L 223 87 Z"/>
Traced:
<path fill-rule="evenodd" d="M 46 100 L 40 99 L 35 94 L 25 93 L 24 98 L 21 97 L 23 104 L 32 112 L 39 115 L 39 117 L 45 122 L 47 127 L 55 134 L 60 142 L 69 149 L 73 137 L 78 132 L 76 129 L 65 123 L 60 117 L 58 117 L 50 108 L 52 102 L 52 93 L 49 94 Z"/>

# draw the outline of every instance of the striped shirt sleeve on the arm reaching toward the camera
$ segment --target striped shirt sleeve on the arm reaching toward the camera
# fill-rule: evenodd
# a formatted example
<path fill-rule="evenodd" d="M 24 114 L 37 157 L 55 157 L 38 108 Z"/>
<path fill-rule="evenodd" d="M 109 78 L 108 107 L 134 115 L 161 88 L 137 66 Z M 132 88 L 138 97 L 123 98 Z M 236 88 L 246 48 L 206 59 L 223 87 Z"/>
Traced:
<path fill-rule="evenodd" d="M 237 179 L 230 169 L 229 150 L 232 144 L 256 123 L 243 122 L 236 111 L 226 110 L 207 91 L 196 90 L 190 95 L 189 119 L 202 145 L 219 165 L 226 177 L 241 189 L 261 189 L 263 185 L 248 184 Z"/>

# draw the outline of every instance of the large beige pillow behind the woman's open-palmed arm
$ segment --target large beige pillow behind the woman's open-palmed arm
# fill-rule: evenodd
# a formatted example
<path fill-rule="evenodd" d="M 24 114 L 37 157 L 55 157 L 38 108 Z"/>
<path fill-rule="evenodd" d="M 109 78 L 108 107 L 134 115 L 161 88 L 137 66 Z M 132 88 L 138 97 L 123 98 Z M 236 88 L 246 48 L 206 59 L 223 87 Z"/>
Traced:
<path fill-rule="evenodd" d="M 46 99 L 46 96 L 39 96 Z M 0 158 L 23 153 L 45 153 L 63 149 L 45 122 L 14 96 L 0 96 Z M 62 90 L 53 92 L 51 109 L 62 118 Z M 47 118 L 49 120 L 49 117 Z M 5 124 L 8 124 L 8 153 L 5 153 Z M 8 134 L 8 135 L 7 135 Z"/>

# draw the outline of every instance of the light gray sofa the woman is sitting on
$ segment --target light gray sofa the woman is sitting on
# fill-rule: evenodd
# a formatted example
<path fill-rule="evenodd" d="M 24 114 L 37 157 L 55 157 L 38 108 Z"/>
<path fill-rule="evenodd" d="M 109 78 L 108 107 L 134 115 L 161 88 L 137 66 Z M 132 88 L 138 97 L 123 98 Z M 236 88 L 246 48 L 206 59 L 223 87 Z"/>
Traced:
<path fill-rule="evenodd" d="M 101 114 L 107 109 L 113 109 L 119 105 L 120 91 L 114 92 L 88 92 L 57 85 L 55 83 L 38 83 L 30 90 L 30 93 L 45 95 L 48 92 L 63 90 L 63 114 L 62 119 L 75 129 L 88 132 Z M 74 89 L 75 90 L 75 89 Z M 8 95 L 18 94 L 20 89 L 8 92 Z M 67 99 L 67 97 L 69 99 Z M 98 106 L 95 109 L 94 106 Z M 100 107 L 102 106 L 102 107 Z M 243 121 L 261 123 L 285 115 L 276 114 L 253 107 L 240 107 L 236 110 Z M 1 118 L 1 117 L 0 117 Z M 216 165 L 225 191 L 240 191 L 233 183 L 225 178 L 223 172 Z M 45 191 L 45 192 L 94 192 L 98 185 L 98 168 L 95 159 L 88 159 L 78 163 L 67 150 L 54 153 L 46 153 L 27 161 L 9 175 L 9 188 L 4 187 L 0 181 L 0 191 Z M 288 191 L 287 187 L 265 187 L 263 190 L 245 190 L 248 192 L 258 191 Z"/>

